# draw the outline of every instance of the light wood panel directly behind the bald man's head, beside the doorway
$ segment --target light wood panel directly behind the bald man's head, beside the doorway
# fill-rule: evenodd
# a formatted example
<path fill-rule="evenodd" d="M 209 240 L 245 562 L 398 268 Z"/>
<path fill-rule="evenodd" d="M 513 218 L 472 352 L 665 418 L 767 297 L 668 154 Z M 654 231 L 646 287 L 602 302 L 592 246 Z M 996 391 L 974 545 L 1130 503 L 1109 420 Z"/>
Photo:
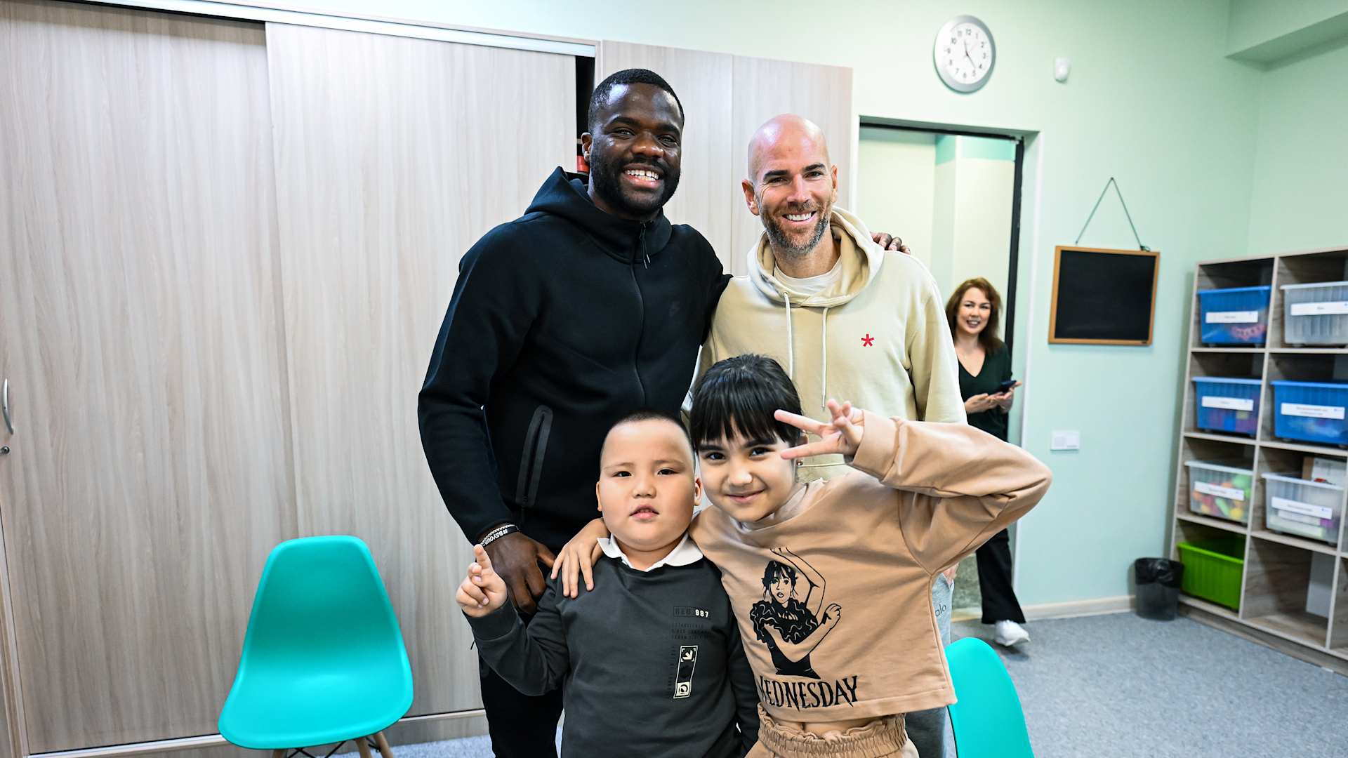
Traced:
<path fill-rule="evenodd" d="M 772 116 L 797 113 L 824 129 L 829 158 L 838 167 L 837 204 L 849 208 L 848 173 L 852 170 L 852 132 L 856 131 L 852 117 L 852 69 L 737 55 L 733 98 L 731 163 L 736 185 L 748 173 L 748 144 L 754 132 Z M 745 274 L 747 251 L 763 233 L 763 224 L 749 213 L 743 193 L 739 197 L 731 232 L 735 248 L 731 258 L 735 274 Z"/>

